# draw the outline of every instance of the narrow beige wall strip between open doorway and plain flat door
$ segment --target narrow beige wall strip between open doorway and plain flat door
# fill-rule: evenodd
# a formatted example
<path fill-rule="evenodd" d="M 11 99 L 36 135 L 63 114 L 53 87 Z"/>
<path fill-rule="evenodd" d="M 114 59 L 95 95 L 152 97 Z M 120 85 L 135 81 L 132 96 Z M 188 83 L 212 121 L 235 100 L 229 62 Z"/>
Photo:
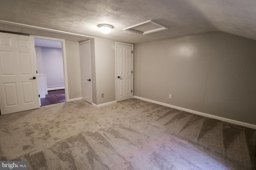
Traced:
<path fill-rule="evenodd" d="M 65 41 L 69 99 L 82 97 L 79 43 Z"/>

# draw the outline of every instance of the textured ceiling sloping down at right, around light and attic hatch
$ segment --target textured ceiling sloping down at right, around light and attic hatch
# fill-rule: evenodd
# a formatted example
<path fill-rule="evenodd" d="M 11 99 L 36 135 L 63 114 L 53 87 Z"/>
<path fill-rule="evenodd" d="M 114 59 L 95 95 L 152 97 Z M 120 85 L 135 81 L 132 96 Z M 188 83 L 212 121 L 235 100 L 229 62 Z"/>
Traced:
<path fill-rule="evenodd" d="M 256 39 L 256 0 L 1 0 L 0 20 L 127 43 L 212 31 Z M 148 35 L 123 30 L 148 20 L 168 29 Z M 102 23 L 113 25 L 112 32 L 102 34 Z M 0 23 L 0 30 L 8 26 Z"/>

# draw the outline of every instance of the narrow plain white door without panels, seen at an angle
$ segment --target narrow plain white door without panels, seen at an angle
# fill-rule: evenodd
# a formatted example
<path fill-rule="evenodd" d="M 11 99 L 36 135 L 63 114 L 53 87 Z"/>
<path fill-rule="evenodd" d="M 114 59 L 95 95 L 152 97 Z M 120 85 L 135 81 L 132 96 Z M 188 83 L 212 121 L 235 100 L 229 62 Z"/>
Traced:
<path fill-rule="evenodd" d="M 90 41 L 79 45 L 82 81 L 82 100 L 92 104 L 92 80 L 90 61 Z"/>

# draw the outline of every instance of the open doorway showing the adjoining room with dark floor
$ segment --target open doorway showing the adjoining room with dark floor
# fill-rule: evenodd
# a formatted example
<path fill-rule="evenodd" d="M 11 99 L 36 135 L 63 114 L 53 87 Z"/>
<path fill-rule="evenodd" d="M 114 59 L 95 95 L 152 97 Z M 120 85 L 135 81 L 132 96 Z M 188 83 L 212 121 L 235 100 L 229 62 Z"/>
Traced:
<path fill-rule="evenodd" d="M 34 38 L 40 106 L 66 102 L 62 41 Z"/>

